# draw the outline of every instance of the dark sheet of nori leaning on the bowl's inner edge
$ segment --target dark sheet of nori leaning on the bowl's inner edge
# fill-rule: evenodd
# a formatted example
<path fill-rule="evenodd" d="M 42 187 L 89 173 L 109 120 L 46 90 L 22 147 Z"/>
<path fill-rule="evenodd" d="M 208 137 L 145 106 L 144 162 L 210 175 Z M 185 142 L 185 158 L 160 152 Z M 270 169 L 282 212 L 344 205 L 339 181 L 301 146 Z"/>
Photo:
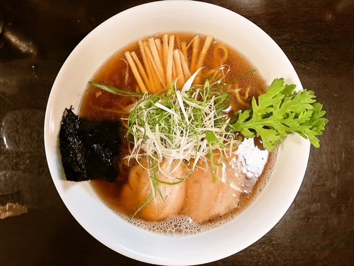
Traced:
<path fill-rule="evenodd" d="M 122 136 L 118 120 L 88 120 L 65 109 L 59 132 L 59 149 L 68 181 L 115 181 Z"/>

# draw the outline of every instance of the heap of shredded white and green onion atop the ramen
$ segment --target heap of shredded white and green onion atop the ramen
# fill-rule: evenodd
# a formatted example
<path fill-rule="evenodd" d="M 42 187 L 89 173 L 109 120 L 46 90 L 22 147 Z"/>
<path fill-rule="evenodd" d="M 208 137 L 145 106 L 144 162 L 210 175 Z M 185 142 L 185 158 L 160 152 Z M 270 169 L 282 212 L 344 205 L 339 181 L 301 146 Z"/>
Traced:
<path fill-rule="evenodd" d="M 186 84 L 189 87 L 180 90 L 174 82 L 166 91 L 145 94 L 136 103 L 128 118 L 127 136 L 134 144 L 129 161 L 148 156 L 160 170 L 162 159 L 194 159 L 192 172 L 211 151 L 225 153 L 239 145 L 225 112 L 230 107 L 227 91 L 211 87 L 208 80 L 203 88 L 193 87 L 190 80 Z"/>

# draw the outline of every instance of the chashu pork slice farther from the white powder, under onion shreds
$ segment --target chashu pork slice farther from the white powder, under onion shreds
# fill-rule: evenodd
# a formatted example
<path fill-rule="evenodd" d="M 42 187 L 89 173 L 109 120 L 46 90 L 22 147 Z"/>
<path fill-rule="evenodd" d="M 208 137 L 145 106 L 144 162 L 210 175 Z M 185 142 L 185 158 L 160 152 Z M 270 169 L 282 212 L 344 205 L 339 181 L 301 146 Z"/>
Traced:
<path fill-rule="evenodd" d="M 136 213 L 147 199 L 154 195 L 151 201 L 138 211 L 137 218 L 160 221 L 180 213 L 185 202 L 186 182 L 180 184 L 158 182 L 157 188 L 153 186 L 153 180 L 150 178 L 151 170 L 147 170 L 146 161 L 142 166 L 136 164 L 131 168 L 129 179 L 122 188 L 120 200 L 124 211 Z M 176 161 L 170 160 L 162 161 L 160 168 L 162 171 L 158 172 L 157 178 L 168 183 L 180 181 L 180 178 L 185 178 L 188 171 L 184 163 L 178 165 Z"/>

